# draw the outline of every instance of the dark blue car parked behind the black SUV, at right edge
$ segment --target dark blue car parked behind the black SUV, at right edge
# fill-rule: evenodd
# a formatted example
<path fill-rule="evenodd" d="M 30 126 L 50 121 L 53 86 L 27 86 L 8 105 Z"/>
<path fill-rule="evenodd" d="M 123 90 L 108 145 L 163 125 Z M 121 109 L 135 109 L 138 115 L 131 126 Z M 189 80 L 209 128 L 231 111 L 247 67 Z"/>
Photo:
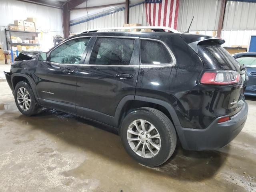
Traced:
<path fill-rule="evenodd" d="M 256 52 L 236 53 L 233 57 L 242 67 L 246 67 L 248 82 L 244 94 L 256 96 Z"/>

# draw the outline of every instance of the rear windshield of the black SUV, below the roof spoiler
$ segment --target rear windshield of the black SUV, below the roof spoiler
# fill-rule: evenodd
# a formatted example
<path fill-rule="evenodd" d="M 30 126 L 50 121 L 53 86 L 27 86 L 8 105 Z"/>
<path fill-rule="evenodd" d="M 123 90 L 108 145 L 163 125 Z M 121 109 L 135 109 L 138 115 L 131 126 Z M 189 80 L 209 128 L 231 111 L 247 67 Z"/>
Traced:
<path fill-rule="evenodd" d="M 198 44 L 198 54 L 207 69 L 239 71 L 240 65 L 222 46 L 215 42 Z"/>

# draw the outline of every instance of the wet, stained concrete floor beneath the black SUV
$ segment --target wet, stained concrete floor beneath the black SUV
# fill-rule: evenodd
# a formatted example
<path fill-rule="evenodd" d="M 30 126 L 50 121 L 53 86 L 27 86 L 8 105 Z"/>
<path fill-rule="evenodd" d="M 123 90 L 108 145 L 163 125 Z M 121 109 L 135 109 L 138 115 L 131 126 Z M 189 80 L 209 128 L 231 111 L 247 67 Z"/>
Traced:
<path fill-rule="evenodd" d="M 177 147 L 163 166 L 148 168 L 105 126 L 56 110 L 22 115 L 7 82 L 0 82 L 0 191 L 255 192 L 256 98 L 247 102 L 246 125 L 226 147 Z"/>

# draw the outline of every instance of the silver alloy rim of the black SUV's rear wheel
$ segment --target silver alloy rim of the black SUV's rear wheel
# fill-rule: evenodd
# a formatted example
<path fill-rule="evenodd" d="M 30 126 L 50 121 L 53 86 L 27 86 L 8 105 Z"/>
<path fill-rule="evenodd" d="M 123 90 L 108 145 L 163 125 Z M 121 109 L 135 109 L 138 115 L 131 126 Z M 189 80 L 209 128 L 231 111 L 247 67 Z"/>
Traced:
<path fill-rule="evenodd" d="M 152 158 L 161 148 L 161 138 L 156 127 L 142 119 L 133 121 L 127 130 L 130 148 L 143 158 Z"/>

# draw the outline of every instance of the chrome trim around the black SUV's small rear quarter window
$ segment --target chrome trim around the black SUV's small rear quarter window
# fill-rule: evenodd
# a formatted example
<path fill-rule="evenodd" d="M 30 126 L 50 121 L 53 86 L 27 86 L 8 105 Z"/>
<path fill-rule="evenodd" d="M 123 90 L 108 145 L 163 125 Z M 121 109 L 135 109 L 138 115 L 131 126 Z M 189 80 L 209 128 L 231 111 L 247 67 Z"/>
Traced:
<path fill-rule="evenodd" d="M 158 39 L 152 39 L 152 38 L 143 38 L 142 37 L 142 38 L 140 38 L 140 40 L 141 39 L 142 40 L 157 41 L 157 42 L 162 43 L 166 47 L 167 51 L 169 52 L 169 54 L 172 58 L 172 62 L 162 63 L 162 64 L 148 64 L 148 63 L 143 64 L 143 63 L 140 63 L 140 67 L 172 67 L 176 64 L 176 58 L 175 58 L 174 54 L 172 53 L 172 50 L 169 48 L 169 46 L 165 42 L 163 42 L 161 40 L 158 40 Z"/>

